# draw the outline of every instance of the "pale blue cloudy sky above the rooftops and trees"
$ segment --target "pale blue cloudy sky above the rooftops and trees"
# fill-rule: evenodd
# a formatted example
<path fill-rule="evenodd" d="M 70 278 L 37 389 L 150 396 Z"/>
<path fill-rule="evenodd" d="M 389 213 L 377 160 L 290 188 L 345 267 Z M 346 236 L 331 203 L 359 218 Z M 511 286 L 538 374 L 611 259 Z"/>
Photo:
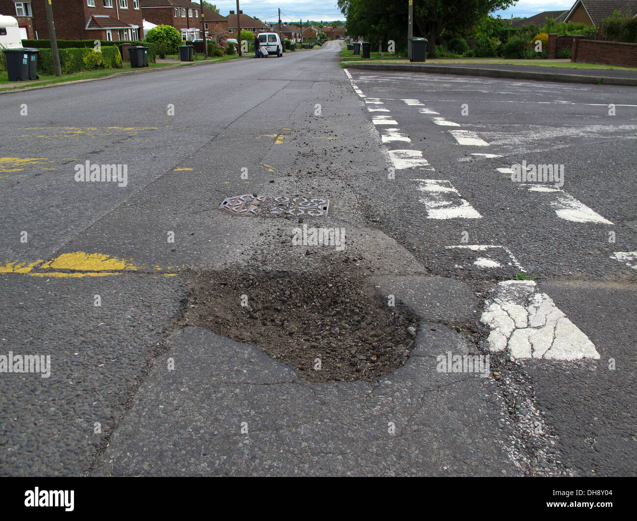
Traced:
<path fill-rule="evenodd" d="M 220 13 L 227 16 L 230 10 L 236 10 L 236 0 L 211 0 Z M 415 0 L 418 1 L 418 0 Z M 450 0 L 457 1 L 457 0 Z M 503 18 L 530 17 L 542 11 L 558 11 L 571 8 L 575 0 L 519 0 L 514 7 L 506 11 L 497 11 Z M 406 4 L 406 2 L 405 2 Z M 343 20 L 336 0 L 240 0 L 241 10 L 264 21 L 276 21 L 277 9 L 281 8 L 283 22 L 306 18 L 309 20 Z M 406 8 L 406 7 L 405 7 Z"/>

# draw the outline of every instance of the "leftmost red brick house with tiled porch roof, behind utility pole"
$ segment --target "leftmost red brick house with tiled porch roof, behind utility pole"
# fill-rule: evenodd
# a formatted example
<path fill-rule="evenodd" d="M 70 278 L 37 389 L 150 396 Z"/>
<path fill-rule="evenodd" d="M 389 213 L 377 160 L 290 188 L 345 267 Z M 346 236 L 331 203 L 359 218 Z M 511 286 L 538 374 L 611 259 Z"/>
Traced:
<path fill-rule="evenodd" d="M 140 1 L 54 0 L 55 35 L 64 40 L 143 39 Z M 24 38 L 49 38 L 45 0 L 0 0 L 0 14 L 17 18 Z"/>

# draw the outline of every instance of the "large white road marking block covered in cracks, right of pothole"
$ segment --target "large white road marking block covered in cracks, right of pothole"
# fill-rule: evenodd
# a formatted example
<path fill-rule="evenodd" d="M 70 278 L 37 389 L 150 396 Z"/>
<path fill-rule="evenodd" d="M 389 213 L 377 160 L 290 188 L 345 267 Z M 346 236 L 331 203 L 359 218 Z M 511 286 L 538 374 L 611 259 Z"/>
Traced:
<path fill-rule="evenodd" d="M 480 317 L 491 328 L 491 351 L 508 349 L 512 359 L 599 359 L 595 345 L 533 281 L 497 284 Z"/>

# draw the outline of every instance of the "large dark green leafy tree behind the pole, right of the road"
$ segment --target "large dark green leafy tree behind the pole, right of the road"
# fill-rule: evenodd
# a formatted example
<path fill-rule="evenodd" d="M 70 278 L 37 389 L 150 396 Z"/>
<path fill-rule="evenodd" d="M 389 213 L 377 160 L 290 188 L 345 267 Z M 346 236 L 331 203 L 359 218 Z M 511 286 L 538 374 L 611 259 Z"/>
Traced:
<path fill-rule="evenodd" d="M 491 11 L 506 9 L 517 0 L 414 0 L 414 34 L 429 39 L 429 57 L 436 57 L 436 39 L 445 29 L 464 29 Z M 347 17 L 348 34 L 405 41 L 408 3 L 405 0 L 338 0 Z"/>

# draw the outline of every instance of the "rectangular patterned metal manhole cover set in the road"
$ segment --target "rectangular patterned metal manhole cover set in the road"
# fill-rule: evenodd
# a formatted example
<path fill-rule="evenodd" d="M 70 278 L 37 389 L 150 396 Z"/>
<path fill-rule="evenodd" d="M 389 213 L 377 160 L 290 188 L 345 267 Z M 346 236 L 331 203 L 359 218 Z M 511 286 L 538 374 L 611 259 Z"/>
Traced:
<path fill-rule="evenodd" d="M 329 199 L 320 197 L 287 197 L 286 195 L 254 195 L 244 193 L 226 197 L 220 210 L 232 215 L 276 216 L 283 214 L 323 217 L 329 211 Z"/>

